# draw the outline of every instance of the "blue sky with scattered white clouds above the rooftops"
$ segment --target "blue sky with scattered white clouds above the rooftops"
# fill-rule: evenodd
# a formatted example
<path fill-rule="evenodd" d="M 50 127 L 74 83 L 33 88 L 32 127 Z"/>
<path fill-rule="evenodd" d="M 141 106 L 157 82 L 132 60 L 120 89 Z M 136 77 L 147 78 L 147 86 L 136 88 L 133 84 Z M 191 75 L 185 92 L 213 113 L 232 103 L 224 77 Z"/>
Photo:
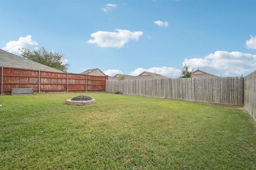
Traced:
<path fill-rule="evenodd" d="M 1 1 L 0 47 L 60 52 L 74 73 L 178 77 L 187 63 L 240 76 L 256 70 L 255 8 L 242 0 Z"/>

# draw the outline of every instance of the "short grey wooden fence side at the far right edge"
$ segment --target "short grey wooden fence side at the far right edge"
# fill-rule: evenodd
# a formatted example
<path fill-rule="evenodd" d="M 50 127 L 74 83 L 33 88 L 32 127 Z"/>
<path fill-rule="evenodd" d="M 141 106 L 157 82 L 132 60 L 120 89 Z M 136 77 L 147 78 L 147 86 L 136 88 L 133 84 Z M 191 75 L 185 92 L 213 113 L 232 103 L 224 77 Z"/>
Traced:
<path fill-rule="evenodd" d="M 244 77 L 244 108 L 256 121 L 256 71 Z"/>

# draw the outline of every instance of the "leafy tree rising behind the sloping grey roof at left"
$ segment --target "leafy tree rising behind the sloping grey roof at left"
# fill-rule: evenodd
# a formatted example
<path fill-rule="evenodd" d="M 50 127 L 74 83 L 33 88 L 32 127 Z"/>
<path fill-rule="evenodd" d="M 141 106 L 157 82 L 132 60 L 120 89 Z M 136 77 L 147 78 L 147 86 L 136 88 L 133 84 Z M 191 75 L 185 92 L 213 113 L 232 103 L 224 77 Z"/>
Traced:
<path fill-rule="evenodd" d="M 61 53 L 52 51 L 47 52 L 44 47 L 35 50 L 26 48 L 19 50 L 21 52 L 21 56 L 24 58 L 67 72 L 69 64 L 66 63 L 65 58 L 63 58 L 63 54 Z"/>

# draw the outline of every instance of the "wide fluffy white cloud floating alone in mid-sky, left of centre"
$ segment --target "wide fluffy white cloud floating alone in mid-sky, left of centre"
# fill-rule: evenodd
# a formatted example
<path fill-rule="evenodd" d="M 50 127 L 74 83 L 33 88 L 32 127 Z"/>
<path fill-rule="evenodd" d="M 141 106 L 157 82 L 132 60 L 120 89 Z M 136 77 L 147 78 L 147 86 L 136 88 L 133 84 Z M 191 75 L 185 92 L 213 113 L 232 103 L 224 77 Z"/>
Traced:
<path fill-rule="evenodd" d="M 97 44 L 99 47 L 121 48 L 130 40 L 138 40 L 143 35 L 142 31 L 129 31 L 116 29 L 117 32 L 97 31 L 91 34 L 90 44 Z"/>

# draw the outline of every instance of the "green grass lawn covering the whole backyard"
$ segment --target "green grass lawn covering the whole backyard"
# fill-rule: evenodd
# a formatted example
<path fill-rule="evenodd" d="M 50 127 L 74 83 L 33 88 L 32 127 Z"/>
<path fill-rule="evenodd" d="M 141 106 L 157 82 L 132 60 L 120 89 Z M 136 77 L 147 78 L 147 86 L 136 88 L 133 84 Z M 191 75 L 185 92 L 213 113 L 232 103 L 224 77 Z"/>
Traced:
<path fill-rule="evenodd" d="M 0 169 L 256 169 L 242 108 L 92 92 L 1 96 Z"/>

